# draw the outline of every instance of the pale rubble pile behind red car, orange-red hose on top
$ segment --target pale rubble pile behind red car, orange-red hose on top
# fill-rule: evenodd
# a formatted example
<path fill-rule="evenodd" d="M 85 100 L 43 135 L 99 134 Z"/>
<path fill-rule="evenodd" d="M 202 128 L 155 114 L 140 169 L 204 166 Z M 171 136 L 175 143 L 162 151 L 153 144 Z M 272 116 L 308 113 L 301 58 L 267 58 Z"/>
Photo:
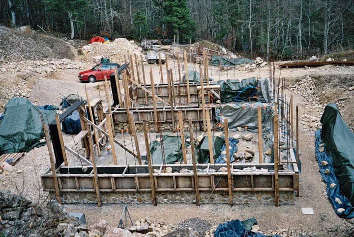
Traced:
<path fill-rule="evenodd" d="M 138 47 L 133 40 L 127 40 L 125 38 L 117 38 L 109 43 L 92 43 L 85 45 L 81 49 L 83 55 L 80 56 L 81 60 L 86 62 L 92 62 L 96 59 L 94 57 L 105 57 L 109 58 L 111 62 L 122 63 L 124 62 L 124 55 L 128 53 L 134 55 L 137 54 L 138 59 L 142 54 L 143 49 Z"/>

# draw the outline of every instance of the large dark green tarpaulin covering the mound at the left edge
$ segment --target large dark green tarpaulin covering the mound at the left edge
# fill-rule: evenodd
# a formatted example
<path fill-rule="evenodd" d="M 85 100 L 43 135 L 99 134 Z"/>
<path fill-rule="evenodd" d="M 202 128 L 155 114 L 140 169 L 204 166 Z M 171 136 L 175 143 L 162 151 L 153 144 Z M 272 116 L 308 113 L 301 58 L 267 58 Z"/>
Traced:
<path fill-rule="evenodd" d="M 28 152 L 45 144 L 39 142 L 44 137 L 40 113 L 45 123 L 55 122 L 53 110 L 37 108 L 25 98 L 9 100 L 0 124 L 0 154 Z"/>

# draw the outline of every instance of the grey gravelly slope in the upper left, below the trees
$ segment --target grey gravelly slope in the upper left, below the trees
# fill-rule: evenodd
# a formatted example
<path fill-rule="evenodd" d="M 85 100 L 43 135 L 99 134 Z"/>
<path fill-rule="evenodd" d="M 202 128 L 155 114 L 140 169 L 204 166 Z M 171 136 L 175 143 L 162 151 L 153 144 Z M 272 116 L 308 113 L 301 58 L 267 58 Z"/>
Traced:
<path fill-rule="evenodd" d="M 73 57 L 70 46 L 60 39 L 0 26 L 0 63 Z"/>

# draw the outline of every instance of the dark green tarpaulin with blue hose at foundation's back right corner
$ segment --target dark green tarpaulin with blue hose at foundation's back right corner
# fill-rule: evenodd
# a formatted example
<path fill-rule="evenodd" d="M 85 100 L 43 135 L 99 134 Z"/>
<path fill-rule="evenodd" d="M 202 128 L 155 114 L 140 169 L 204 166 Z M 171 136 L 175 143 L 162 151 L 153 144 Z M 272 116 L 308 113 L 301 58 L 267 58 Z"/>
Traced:
<path fill-rule="evenodd" d="M 227 103 L 227 102 L 234 101 L 234 98 L 243 89 L 249 86 L 256 87 L 258 82 L 256 78 L 249 78 L 249 79 L 243 79 L 241 81 L 237 79 L 219 80 L 216 83 L 220 85 L 221 103 Z M 241 95 L 238 96 L 238 98 L 247 99 L 253 93 L 253 91 L 254 89 L 251 88 L 246 89 L 241 93 Z"/>

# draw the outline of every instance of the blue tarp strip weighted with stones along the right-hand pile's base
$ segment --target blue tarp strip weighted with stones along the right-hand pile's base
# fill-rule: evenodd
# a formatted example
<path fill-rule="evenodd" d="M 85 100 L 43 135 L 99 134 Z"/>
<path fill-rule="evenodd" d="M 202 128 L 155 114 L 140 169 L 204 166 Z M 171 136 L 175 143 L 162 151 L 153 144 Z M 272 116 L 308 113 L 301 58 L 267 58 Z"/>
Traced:
<path fill-rule="evenodd" d="M 328 198 L 333 205 L 334 211 L 339 217 L 351 219 L 354 217 L 354 208 L 352 207 L 352 204 L 349 202 L 348 198 L 345 195 L 343 195 L 342 191 L 340 190 L 340 185 L 337 176 L 334 173 L 332 157 L 328 155 L 324 145 L 322 145 L 324 148 L 324 152 L 320 152 L 320 144 L 323 144 L 323 140 L 321 138 L 321 130 L 316 131 L 315 137 L 316 137 L 315 152 L 316 152 L 317 162 L 320 167 L 322 178 L 324 179 L 324 182 L 327 184 Z M 328 164 L 324 166 L 322 165 L 322 161 L 327 161 Z M 324 174 L 324 171 L 326 169 L 330 171 L 329 174 Z M 336 184 L 336 185 L 334 187 L 330 187 L 330 184 Z M 338 204 L 335 201 L 335 198 L 339 198 L 339 200 L 343 204 Z M 337 211 L 339 208 L 343 208 L 346 211 L 339 213 Z"/>

